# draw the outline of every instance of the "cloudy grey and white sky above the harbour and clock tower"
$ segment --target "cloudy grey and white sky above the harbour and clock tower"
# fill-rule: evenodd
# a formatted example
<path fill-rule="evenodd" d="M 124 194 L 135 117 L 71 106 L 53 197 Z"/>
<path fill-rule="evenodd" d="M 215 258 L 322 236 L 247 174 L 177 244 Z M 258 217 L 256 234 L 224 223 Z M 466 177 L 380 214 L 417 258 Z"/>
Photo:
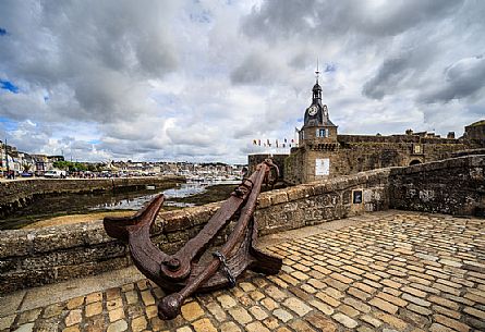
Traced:
<path fill-rule="evenodd" d="M 245 162 L 320 85 L 341 134 L 485 118 L 485 1 L 0 1 L 0 139 L 69 159 Z M 282 151 L 282 149 L 281 149 Z"/>

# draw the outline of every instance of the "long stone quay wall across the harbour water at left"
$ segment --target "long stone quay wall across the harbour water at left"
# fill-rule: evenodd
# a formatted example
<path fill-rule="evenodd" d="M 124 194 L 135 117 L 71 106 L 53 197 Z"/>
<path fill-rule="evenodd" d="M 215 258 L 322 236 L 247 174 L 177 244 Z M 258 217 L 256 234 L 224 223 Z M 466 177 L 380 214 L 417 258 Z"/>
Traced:
<path fill-rule="evenodd" d="M 144 187 L 146 185 L 170 186 L 183 182 L 180 176 L 114 177 L 114 179 L 27 179 L 0 182 L 0 218 L 38 195 L 62 193 L 89 193 Z"/>

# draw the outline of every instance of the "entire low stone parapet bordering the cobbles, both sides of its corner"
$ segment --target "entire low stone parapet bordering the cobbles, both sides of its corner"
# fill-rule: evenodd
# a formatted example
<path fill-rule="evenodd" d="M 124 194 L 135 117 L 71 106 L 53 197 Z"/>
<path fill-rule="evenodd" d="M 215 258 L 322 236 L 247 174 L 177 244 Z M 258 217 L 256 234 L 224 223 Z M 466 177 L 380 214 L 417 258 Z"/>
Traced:
<path fill-rule="evenodd" d="M 259 196 L 255 218 L 259 233 L 271 234 L 389 207 L 471 214 L 484 206 L 484 169 L 485 156 L 469 156 L 272 190 Z M 160 212 L 153 242 L 166 253 L 177 250 L 218 206 Z M 131 263 L 126 246 L 108 237 L 101 222 L 0 232 L 0 293 Z"/>

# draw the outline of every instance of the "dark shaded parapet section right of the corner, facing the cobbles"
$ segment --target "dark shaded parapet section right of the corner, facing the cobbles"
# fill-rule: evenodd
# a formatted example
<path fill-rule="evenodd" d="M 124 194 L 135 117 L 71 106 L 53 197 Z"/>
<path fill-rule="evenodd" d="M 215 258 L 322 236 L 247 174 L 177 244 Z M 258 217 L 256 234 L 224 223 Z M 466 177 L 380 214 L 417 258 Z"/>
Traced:
<path fill-rule="evenodd" d="M 485 155 L 392 169 L 390 207 L 457 216 L 484 216 Z"/>

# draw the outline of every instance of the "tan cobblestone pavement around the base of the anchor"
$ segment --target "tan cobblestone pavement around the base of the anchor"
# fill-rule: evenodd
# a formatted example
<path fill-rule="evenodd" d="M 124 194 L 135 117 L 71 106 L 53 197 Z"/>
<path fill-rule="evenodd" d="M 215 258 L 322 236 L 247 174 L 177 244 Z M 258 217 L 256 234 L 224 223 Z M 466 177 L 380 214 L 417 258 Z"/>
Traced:
<path fill-rule="evenodd" d="M 246 273 L 232 290 L 189 299 L 172 321 L 157 318 L 160 288 L 141 280 L 16 312 L 0 330 L 485 331 L 484 219 L 366 216 L 274 243 L 278 275 Z"/>

